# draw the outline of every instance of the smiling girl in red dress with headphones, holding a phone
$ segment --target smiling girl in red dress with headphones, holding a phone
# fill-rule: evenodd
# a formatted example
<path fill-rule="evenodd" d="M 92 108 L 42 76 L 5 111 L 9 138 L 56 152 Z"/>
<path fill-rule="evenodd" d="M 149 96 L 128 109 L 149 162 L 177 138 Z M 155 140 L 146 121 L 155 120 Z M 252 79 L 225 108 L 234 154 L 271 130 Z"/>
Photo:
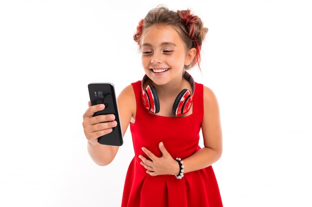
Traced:
<path fill-rule="evenodd" d="M 186 72 L 199 66 L 207 32 L 190 10 L 165 7 L 151 10 L 137 27 L 134 40 L 146 75 L 118 97 L 123 134 L 130 124 L 135 150 L 122 207 L 222 207 L 211 167 L 222 153 L 218 103 L 211 89 Z M 89 103 L 83 116 L 89 154 L 103 166 L 118 150 L 97 141 L 117 125 L 114 115 L 93 117 L 104 107 Z"/>

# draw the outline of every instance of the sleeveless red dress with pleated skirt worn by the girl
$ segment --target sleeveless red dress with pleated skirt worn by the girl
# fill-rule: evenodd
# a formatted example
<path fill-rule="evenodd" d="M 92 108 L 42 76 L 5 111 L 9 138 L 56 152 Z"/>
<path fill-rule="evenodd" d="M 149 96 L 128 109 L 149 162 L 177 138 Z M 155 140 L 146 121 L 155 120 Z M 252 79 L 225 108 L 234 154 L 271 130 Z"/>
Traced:
<path fill-rule="evenodd" d="M 200 149 L 198 141 L 203 119 L 203 85 L 195 83 L 193 113 L 183 118 L 149 113 L 142 103 L 141 81 L 132 85 L 137 101 L 136 121 L 130 124 L 135 157 L 127 172 L 122 207 L 222 207 L 211 166 L 185 173 L 182 179 L 176 179 L 173 175 L 153 177 L 146 173 L 138 157 L 140 154 L 146 156 L 141 149 L 143 146 L 160 157 L 160 141 L 173 158 L 184 159 Z"/>

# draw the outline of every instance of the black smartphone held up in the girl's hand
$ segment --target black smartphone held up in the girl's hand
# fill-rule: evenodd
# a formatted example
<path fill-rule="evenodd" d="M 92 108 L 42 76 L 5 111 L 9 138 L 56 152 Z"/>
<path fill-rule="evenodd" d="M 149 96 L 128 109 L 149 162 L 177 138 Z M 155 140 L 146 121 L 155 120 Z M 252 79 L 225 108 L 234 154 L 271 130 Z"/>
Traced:
<path fill-rule="evenodd" d="M 118 104 L 113 83 L 90 83 L 88 84 L 91 105 L 104 104 L 102 111 L 94 113 L 93 116 L 114 114 L 117 126 L 113 132 L 98 138 L 100 144 L 121 146 L 123 144 L 123 134 L 119 119 Z"/>

